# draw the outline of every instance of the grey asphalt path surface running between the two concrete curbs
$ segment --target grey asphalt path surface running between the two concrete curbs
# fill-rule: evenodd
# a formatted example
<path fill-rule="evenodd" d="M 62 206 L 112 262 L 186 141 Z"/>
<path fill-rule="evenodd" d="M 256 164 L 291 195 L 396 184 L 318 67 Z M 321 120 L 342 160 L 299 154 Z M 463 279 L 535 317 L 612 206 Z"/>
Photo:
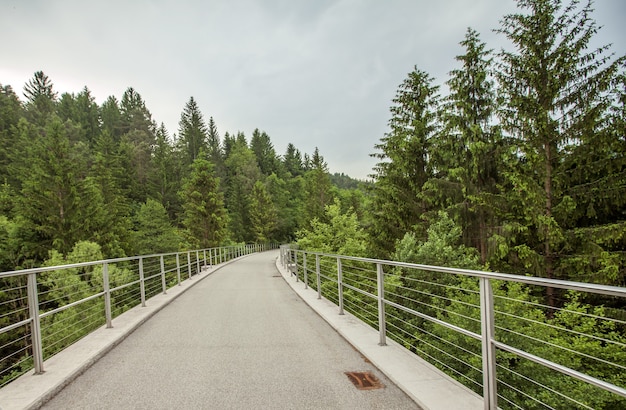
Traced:
<path fill-rule="evenodd" d="M 415 409 L 253 254 L 174 300 L 44 409 Z M 344 372 L 386 386 L 357 390 Z"/>

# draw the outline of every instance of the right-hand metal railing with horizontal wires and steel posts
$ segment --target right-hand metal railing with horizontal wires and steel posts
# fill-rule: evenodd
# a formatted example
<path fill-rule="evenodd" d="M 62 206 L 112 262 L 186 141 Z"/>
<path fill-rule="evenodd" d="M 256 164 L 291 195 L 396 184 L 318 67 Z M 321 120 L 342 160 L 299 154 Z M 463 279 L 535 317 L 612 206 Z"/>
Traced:
<path fill-rule="evenodd" d="M 626 288 L 306 252 L 280 263 L 482 394 L 485 409 L 626 408 Z M 543 301 L 550 292 L 558 303 Z"/>

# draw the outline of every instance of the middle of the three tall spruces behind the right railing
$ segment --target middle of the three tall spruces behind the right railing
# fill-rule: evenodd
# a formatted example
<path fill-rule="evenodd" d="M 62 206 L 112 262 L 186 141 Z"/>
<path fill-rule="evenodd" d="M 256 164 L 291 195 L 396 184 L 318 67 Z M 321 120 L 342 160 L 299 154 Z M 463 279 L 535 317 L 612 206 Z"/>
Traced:
<path fill-rule="evenodd" d="M 491 51 L 472 29 L 460 44 L 465 54 L 456 57 L 461 68 L 453 70 L 447 81 L 450 94 L 442 110 L 444 129 L 431 149 L 434 178 L 428 183 L 428 195 L 462 221 L 467 245 L 477 248 L 485 263 L 489 226 L 496 224 L 491 207 L 501 182 L 502 138 L 493 125 Z"/>

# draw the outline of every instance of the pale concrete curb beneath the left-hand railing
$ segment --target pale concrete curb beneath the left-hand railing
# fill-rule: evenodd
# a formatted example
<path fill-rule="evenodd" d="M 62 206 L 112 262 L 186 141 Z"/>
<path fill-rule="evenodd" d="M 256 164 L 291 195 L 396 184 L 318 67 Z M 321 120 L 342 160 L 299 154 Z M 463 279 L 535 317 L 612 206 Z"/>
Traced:
<path fill-rule="evenodd" d="M 44 373 L 31 370 L 0 389 L 0 410 L 38 409 L 65 386 L 120 344 L 135 329 L 158 313 L 180 295 L 240 256 L 212 267 L 204 267 L 198 275 L 181 281 L 166 294 L 158 294 L 113 319 L 113 327 L 103 326 L 44 362 Z"/>

